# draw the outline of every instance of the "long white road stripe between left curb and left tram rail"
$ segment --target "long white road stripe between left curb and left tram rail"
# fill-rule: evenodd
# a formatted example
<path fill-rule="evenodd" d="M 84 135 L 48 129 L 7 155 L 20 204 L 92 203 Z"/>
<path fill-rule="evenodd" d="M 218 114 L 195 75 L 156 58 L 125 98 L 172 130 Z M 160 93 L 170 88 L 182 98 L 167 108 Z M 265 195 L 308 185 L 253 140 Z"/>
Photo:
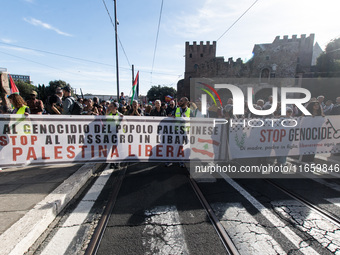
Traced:
<path fill-rule="evenodd" d="M 113 169 L 107 169 L 101 173 L 82 201 L 58 229 L 41 255 L 65 254 L 112 172 Z"/>

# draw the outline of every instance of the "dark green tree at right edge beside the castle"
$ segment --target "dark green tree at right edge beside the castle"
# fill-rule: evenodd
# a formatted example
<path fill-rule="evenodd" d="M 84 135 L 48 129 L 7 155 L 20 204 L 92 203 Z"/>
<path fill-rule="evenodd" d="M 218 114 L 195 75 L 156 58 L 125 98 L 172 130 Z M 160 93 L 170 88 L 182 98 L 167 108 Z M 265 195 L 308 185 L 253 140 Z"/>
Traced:
<path fill-rule="evenodd" d="M 340 74 L 340 38 L 334 39 L 326 46 L 326 50 L 317 59 L 317 71 L 322 76 L 336 76 Z"/>

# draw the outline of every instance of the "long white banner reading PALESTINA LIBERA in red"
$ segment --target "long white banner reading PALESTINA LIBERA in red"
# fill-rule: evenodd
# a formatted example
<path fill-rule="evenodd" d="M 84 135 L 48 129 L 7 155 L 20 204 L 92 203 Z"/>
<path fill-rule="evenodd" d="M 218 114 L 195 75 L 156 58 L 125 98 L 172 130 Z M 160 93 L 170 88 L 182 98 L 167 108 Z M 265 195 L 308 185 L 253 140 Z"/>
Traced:
<path fill-rule="evenodd" d="M 0 167 L 224 160 L 226 137 L 214 119 L 0 115 Z"/>

